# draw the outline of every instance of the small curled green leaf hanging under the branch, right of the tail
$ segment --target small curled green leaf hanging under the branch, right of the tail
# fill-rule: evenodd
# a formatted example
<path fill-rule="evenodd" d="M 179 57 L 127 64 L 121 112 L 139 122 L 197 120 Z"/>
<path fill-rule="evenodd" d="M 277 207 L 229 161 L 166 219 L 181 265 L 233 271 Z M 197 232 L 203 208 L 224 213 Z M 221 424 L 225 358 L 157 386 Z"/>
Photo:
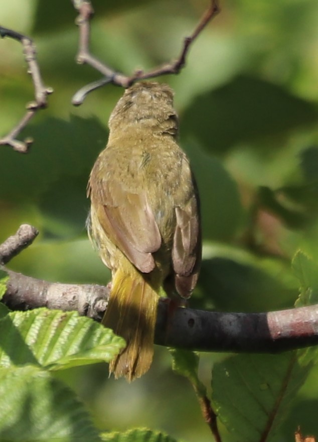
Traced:
<path fill-rule="evenodd" d="M 173 371 L 188 378 L 196 393 L 200 397 L 204 396 L 207 390 L 198 377 L 199 355 L 195 352 L 180 349 L 170 349 L 170 354 L 173 358 Z"/>

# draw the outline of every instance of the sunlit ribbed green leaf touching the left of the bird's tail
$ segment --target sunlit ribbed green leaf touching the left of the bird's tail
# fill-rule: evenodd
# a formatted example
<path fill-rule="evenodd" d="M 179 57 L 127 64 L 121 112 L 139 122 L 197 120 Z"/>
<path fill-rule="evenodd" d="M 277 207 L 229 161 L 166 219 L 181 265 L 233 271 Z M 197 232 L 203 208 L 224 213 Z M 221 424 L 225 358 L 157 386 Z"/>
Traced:
<path fill-rule="evenodd" d="M 39 308 L 1 319 L 0 366 L 35 364 L 50 370 L 109 362 L 125 346 L 112 330 L 77 312 Z"/>

